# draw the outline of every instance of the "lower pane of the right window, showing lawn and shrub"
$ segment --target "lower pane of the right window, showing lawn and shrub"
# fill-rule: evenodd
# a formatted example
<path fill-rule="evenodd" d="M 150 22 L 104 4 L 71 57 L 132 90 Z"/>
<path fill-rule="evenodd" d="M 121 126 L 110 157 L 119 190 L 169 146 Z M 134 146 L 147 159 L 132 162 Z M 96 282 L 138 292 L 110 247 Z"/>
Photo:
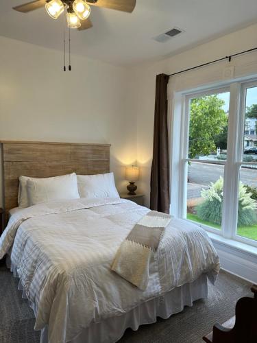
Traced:
<path fill-rule="evenodd" d="M 237 235 L 257 240 L 257 165 L 241 167 Z"/>

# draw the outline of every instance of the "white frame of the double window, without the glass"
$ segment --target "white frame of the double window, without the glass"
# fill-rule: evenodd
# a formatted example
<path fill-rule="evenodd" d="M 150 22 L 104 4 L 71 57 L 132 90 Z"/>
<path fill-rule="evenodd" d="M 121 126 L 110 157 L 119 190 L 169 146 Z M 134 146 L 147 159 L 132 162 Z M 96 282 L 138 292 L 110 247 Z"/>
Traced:
<path fill-rule="evenodd" d="M 199 224 L 210 233 L 221 235 L 225 239 L 233 241 L 241 241 L 244 244 L 257 246 L 257 241 L 236 235 L 237 213 L 238 213 L 238 182 L 240 176 L 241 165 L 257 165 L 257 163 L 243 163 L 243 139 L 245 135 L 245 95 L 247 88 L 257 86 L 257 80 L 251 81 L 231 81 L 223 86 L 208 87 L 201 91 L 191 91 L 180 94 L 178 97 L 181 104 L 181 120 L 180 120 L 180 175 L 178 185 L 178 205 L 173 211 L 173 202 L 171 201 L 171 213 L 175 213 L 178 217 L 186 219 L 186 200 L 187 200 L 187 177 L 188 177 L 188 162 L 201 162 L 224 165 L 224 189 L 223 189 L 223 213 L 221 230 Z M 202 97 L 204 95 L 224 93 L 230 91 L 230 115 L 228 121 L 228 153 L 226 161 L 198 161 L 188 158 L 188 134 L 189 134 L 189 100 L 194 97 Z M 174 110 L 174 108 L 173 108 Z M 177 141 L 178 143 L 178 141 Z M 178 144 L 171 142 L 178 147 Z M 174 149 L 173 149 L 174 150 Z M 172 159 L 172 158 L 171 158 Z M 173 171 L 171 170 L 171 174 Z M 171 176 L 172 181 L 172 176 Z M 171 190 L 175 189 L 171 183 Z M 233 196 L 231 196 L 233 194 Z M 171 200 L 172 200 L 171 193 Z M 188 220 L 191 222 L 191 220 Z M 195 223 L 195 222 L 194 222 Z"/>

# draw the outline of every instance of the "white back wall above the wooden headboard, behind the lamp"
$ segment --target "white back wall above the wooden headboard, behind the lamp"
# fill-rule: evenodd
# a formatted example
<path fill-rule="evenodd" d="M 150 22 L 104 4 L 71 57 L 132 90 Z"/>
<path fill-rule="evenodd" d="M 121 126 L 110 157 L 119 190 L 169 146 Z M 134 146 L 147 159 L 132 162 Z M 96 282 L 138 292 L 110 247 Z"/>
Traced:
<path fill-rule="evenodd" d="M 110 169 L 124 191 L 122 165 L 136 160 L 127 71 L 72 56 L 64 73 L 59 51 L 1 36 L 0 46 L 0 140 L 111 143 Z"/>

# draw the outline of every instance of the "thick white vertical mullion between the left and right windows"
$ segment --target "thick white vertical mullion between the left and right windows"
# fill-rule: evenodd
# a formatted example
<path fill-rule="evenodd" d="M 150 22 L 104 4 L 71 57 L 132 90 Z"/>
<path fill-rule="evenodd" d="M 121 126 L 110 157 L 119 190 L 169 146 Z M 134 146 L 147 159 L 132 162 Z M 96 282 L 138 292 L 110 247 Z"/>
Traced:
<path fill-rule="evenodd" d="M 232 239 L 236 232 L 238 212 L 238 137 L 240 125 L 240 83 L 233 83 L 230 86 L 230 110 L 228 119 L 228 145 L 227 162 L 224 171 L 223 186 L 223 213 L 222 232 L 223 236 Z"/>

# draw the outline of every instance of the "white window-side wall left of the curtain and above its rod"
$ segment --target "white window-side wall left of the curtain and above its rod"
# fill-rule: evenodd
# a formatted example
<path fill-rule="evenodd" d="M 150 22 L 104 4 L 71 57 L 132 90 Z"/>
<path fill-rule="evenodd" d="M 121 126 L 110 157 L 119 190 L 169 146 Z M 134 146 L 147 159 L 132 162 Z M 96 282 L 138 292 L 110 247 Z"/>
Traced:
<path fill-rule="evenodd" d="M 139 188 L 140 191 L 146 194 L 147 205 L 149 205 L 150 192 L 156 75 L 175 73 L 176 71 L 194 67 L 197 64 L 251 49 L 257 45 L 256 36 L 257 25 L 251 25 L 171 58 L 141 64 L 130 71 L 130 82 L 132 84 L 130 113 L 136 113 L 137 117 L 138 165 L 142 167 Z M 210 78 L 208 69 L 206 69 L 205 74 L 205 82 L 207 82 L 208 78 Z M 190 76 L 191 78 L 188 78 L 188 75 L 184 78 L 184 84 L 181 84 L 180 88 L 183 88 L 183 86 L 189 87 L 191 82 L 194 83 L 194 75 L 191 74 Z M 210 82 L 212 82 L 211 79 Z"/>

